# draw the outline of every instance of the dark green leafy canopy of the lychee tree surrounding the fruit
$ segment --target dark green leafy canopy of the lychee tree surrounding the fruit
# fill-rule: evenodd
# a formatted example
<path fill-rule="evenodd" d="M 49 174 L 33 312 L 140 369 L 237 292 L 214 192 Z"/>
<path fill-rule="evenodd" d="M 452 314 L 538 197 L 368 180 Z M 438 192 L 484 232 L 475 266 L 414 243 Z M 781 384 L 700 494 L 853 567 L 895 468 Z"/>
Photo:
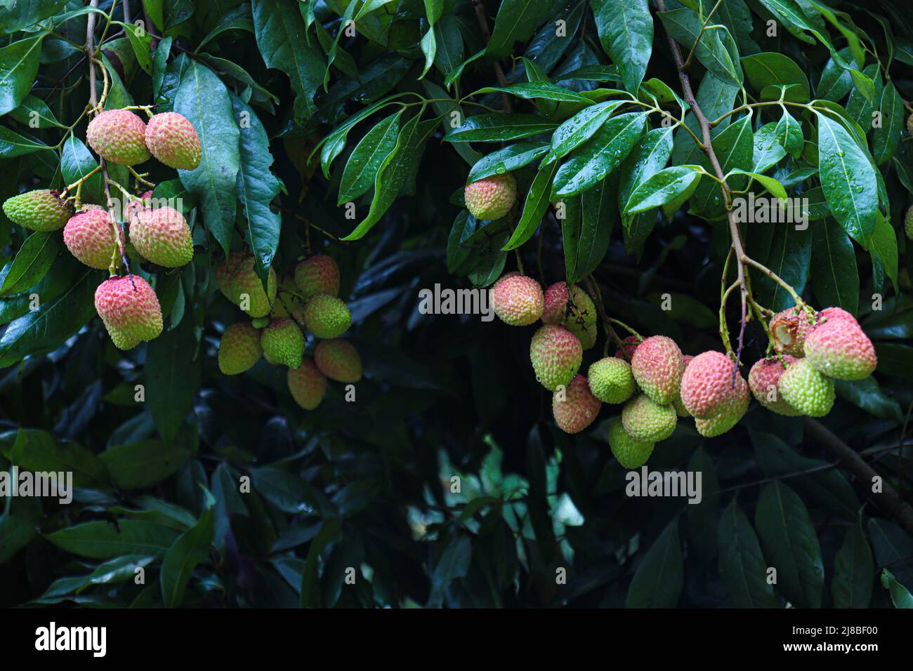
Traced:
<path fill-rule="evenodd" d="M 5 3 L 0 198 L 147 188 L 93 173 L 102 92 L 183 114 L 202 161 L 137 166 L 182 199 L 194 259 L 132 265 L 164 330 L 130 351 L 93 305 L 107 274 L 0 215 L 0 467 L 77 488 L 0 499 L 0 605 L 909 605 L 909 19 L 906 0 Z M 463 187 L 503 173 L 517 204 L 477 221 Z M 801 199 L 807 225 L 740 223 L 737 197 Z M 241 248 L 263 281 L 335 258 L 354 400 L 331 383 L 306 412 L 278 366 L 219 372 L 244 315 L 213 270 Z M 418 309 L 513 269 L 746 371 L 766 310 L 839 306 L 877 371 L 820 420 L 680 421 L 649 467 L 699 472 L 700 503 L 630 497 L 620 406 L 558 430 L 534 327 Z"/>

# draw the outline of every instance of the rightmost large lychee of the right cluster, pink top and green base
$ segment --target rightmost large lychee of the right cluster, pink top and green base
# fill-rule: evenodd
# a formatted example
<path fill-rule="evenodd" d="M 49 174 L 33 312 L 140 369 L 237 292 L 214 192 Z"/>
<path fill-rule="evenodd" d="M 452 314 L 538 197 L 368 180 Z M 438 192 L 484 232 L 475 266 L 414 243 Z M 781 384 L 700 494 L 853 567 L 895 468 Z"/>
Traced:
<path fill-rule="evenodd" d="M 864 380 L 878 365 L 875 346 L 853 315 L 828 310 L 827 321 L 815 324 L 805 339 L 805 361 L 836 380 Z"/>

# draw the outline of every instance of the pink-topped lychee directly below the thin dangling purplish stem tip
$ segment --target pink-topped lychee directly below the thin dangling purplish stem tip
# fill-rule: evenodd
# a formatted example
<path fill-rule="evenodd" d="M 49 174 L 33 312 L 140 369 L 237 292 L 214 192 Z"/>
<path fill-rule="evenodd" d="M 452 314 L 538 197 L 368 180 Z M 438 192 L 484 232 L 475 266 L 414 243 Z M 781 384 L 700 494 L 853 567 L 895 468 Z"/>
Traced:
<path fill-rule="evenodd" d="M 639 350 L 638 350 L 639 351 Z M 687 364 L 682 375 L 682 404 L 696 419 L 710 419 L 748 393 L 740 372 L 732 374 L 735 362 L 721 351 L 704 351 Z"/>

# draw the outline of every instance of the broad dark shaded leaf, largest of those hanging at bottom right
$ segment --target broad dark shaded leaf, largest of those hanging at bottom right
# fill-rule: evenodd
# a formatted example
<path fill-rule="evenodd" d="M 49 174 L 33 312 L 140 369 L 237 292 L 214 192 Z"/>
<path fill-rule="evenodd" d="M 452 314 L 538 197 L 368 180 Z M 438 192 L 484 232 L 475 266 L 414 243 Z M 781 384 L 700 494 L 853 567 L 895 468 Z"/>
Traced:
<path fill-rule="evenodd" d="M 812 519 L 802 499 L 781 482 L 761 490 L 754 526 L 764 556 L 777 569 L 777 585 L 799 608 L 820 608 L 824 562 Z"/>

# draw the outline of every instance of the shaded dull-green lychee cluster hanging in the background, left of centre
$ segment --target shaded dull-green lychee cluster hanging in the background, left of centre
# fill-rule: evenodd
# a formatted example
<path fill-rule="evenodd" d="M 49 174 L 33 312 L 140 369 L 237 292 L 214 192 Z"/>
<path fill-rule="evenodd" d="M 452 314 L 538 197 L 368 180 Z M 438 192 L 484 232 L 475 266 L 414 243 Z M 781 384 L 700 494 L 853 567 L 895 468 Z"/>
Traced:
<path fill-rule="evenodd" d="M 267 289 L 257 277 L 254 257 L 232 252 L 215 268 L 215 284 L 226 299 L 252 320 L 229 326 L 219 342 L 219 370 L 237 375 L 262 356 L 273 365 L 288 367 L 287 383 L 295 403 L 313 410 L 323 400 L 327 380 L 357 383 L 362 359 L 350 341 L 352 314 L 339 298 L 340 269 L 326 255 L 305 257 L 293 273 L 278 283 L 269 268 Z M 305 355 L 305 332 L 314 335 L 313 356 Z"/>

